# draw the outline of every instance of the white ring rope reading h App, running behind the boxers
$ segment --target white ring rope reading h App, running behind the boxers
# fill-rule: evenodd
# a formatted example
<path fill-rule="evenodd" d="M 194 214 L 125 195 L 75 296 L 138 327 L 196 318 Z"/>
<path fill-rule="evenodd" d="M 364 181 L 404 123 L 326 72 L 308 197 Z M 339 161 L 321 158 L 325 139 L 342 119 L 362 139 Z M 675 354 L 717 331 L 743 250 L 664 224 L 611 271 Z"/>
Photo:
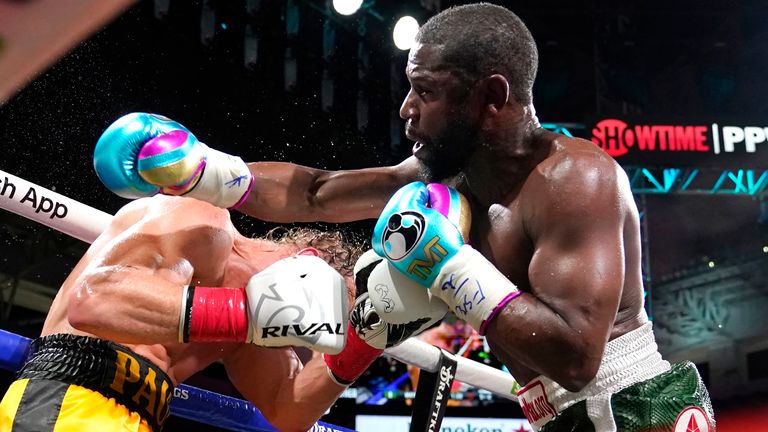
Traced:
<path fill-rule="evenodd" d="M 109 225 L 112 216 L 64 195 L 0 170 L 0 208 L 92 243 Z M 386 354 L 429 372 L 436 372 L 440 349 L 418 339 L 388 348 Z M 457 357 L 456 379 L 517 401 L 514 378 L 474 360 Z"/>

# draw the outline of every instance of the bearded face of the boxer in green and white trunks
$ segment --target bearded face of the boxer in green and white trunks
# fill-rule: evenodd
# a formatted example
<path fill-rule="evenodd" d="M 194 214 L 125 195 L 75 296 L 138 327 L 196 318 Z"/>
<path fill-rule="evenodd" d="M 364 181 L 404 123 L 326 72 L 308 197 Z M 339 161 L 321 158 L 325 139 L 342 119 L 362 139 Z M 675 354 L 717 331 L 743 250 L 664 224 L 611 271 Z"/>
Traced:
<path fill-rule="evenodd" d="M 480 143 L 472 88 L 441 63 L 440 47 L 411 49 L 406 66 L 411 89 L 400 107 L 405 134 L 415 142 L 413 155 L 429 181 L 458 174 Z"/>

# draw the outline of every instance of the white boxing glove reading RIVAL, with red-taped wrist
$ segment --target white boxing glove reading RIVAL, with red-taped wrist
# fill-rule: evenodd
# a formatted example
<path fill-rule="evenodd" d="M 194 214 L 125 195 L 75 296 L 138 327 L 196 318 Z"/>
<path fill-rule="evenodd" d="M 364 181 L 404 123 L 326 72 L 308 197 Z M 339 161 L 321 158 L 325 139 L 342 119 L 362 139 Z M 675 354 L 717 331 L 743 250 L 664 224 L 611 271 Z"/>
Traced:
<path fill-rule="evenodd" d="M 254 275 L 245 288 L 186 287 L 179 341 L 338 353 L 346 342 L 348 316 L 344 278 L 316 256 L 297 255 Z"/>

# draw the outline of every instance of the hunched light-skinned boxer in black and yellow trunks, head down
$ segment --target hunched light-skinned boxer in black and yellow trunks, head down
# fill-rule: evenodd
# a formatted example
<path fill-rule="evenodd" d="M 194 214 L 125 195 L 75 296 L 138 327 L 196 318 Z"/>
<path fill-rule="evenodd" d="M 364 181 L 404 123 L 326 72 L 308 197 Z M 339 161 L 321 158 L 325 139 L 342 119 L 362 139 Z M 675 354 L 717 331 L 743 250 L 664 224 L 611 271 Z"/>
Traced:
<path fill-rule="evenodd" d="M 159 431 L 174 385 L 218 359 L 275 427 L 307 430 L 344 387 L 321 356 L 302 367 L 272 347 L 354 356 L 342 347 L 355 250 L 294 234 L 246 238 L 189 198 L 123 207 L 59 290 L 0 430 Z"/>

